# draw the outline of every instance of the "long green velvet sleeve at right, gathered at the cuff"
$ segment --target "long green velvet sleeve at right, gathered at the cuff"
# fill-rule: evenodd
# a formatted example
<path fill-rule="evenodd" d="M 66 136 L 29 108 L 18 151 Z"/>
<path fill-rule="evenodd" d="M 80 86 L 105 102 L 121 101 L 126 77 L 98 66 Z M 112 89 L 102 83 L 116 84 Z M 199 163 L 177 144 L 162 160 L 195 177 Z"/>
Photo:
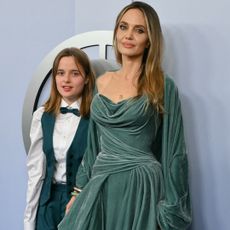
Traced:
<path fill-rule="evenodd" d="M 164 199 L 158 203 L 158 223 L 164 230 L 184 230 L 191 223 L 188 161 L 180 99 L 174 82 L 165 78 L 161 164 Z"/>

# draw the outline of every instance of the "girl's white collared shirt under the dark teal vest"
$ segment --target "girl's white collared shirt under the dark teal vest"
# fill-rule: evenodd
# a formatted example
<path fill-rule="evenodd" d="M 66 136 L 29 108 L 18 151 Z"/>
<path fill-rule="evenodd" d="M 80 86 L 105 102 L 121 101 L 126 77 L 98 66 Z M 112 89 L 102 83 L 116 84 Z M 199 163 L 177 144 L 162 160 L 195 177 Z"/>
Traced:
<path fill-rule="evenodd" d="M 78 108 L 80 102 L 76 101 L 69 107 Z M 68 104 L 62 100 L 61 107 Z M 27 156 L 28 186 L 26 197 L 26 209 L 24 214 L 24 230 L 34 230 L 39 197 L 45 178 L 46 158 L 43 152 L 43 134 L 41 118 L 44 107 L 38 108 L 31 122 L 30 139 L 31 145 Z M 56 117 L 53 133 L 53 148 L 56 159 L 53 181 L 59 183 L 66 182 L 66 155 L 73 141 L 80 117 L 73 113 L 59 114 Z"/>

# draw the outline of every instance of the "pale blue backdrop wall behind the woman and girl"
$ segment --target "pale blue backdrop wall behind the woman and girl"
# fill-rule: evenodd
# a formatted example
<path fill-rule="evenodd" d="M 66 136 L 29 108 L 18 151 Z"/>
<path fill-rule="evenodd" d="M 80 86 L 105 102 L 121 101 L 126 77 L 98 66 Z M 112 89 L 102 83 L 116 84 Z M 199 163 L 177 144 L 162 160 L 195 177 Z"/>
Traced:
<path fill-rule="evenodd" d="M 129 2 L 1 0 L 0 229 L 23 228 L 27 178 L 21 114 L 33 72 L 47 53 L 69 37 L 112 30 L 117 13 Z M 228 230 L 230 2 L 146 2 L 160 16 L 165 71 L 181 93 L 189 149 L 192 229 Z"/>

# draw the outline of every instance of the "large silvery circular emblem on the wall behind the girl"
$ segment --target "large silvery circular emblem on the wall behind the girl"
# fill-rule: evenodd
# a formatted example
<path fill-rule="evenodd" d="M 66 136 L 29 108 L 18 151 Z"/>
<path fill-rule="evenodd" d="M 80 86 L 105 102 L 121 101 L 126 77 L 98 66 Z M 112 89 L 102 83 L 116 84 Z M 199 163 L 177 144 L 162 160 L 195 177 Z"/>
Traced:
<path fill-rule="evenodd" d="M 23 105 L 22 134 L 26 152 L 28 152 L 30 146 L 29 132 L 32 114 L 37 109 L 43 88 L 50 78 L 53 60 L 56 55 L 66 47 L 78 47 L 84 49 L 85 51 L 88 49 L 90 50 L 90 48 L 97 47 L 98 50 L 94 50 L 94 53 L 98 52 L 98 58 L 92 60 L 92 66 L 96 76 L 98 76 L 107 70 L 118 68 L 115 60 L 108 58 L 109 47 L 112 47 L 112 38 L 112 31 L 92 31 L 82 33 L 59 44 L 42 60 L 35 71 L 31 82 L 29 83 Z M 93 52 L 91 51 L 91 53 Z M 90 56 L 91 55 L 89 54 L 89 57 Z"/>

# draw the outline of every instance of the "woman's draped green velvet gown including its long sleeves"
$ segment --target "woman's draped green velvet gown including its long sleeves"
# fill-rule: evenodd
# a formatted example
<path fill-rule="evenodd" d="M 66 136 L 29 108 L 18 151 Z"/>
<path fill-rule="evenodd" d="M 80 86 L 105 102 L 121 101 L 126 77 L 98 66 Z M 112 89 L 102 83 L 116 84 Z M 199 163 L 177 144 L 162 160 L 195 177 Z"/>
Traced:
<path fill-rule="evenodd" d="M 173 82 L 165 82 L 175 94 Z M 83 190 L 59 230 L 186 229 L 191 210 L 183 126 L 179 108 L 179 118 L 173 119 L 176 123 L 179 119 L 179 126 L 173 130 L 173 140 L 168 140 L 173 128 L 170 122 L 164 124 L 164 119 L 170 120 L 168 112 L 162 122 L 146 96 L 119 103 L 94 96 L 88 150 L 76 179 Z M 172 146 L 177 152 L 171 153 L 162 143 L 168 146 L 174 139 L 179 143 Z M 171 172 L 174 158 L 172 167 L 178 168 Z"/>

